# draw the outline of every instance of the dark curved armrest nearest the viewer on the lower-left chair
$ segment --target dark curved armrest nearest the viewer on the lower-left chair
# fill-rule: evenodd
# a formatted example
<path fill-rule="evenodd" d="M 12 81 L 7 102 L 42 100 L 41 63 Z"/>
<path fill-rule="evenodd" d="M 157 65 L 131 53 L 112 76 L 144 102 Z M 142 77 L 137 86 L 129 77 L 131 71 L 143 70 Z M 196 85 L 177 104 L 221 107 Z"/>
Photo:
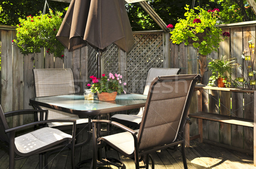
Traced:
<path fill-rule="evenodd" d="M 73 123 L 73 128 L 75 128 L 75 130 L 76 130 L 76 120 L 58 120 L 58 119 L 54 119 L 54 120 L 36 121 L 36 122 L 33 122 L 33 123 L 24 124 L 22 126 L 17 126 L 17 127 L 11 128 L 11 129 L 7 129 L 7 130 L 5 130 L 5 132 L 12 132 L 12 131 L 15 131 L 15 130 L 23 129 L 25 127 L 35 126 L 35 125 L 38 125 L 38 124 L 52 123 L 52 122 L 71 122 L 71 123 Z"/>

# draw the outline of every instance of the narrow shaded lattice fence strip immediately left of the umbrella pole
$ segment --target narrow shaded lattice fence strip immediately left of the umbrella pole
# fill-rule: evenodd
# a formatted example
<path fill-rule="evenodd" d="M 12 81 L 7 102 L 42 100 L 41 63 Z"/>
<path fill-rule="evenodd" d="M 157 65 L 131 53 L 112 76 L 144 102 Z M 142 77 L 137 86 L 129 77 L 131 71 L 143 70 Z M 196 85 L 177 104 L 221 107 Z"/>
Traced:
<path fill-rule="evenodd" d="M 88 76 L 96 76 L 97 77 L 97 62 L 96 62 L 96 54 L 95 48 L 88 45 Z M 89 79 L 87 77 L 87 79 Z"/>

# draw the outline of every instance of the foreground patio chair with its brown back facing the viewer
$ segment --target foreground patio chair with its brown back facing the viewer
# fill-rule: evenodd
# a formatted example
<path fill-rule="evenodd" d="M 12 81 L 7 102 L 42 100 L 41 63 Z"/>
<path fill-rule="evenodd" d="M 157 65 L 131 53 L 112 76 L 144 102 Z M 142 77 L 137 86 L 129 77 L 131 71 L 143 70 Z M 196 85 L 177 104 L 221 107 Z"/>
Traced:
<path fill-rule="evenodd" d="M 155 78 L 149 87 L 139 130 L 131 130 L 115 121 L 93 120 L 93 168 L 97 164 L 97 148 L 105 143 L 128 158 L 135 158 L 136 169 L 140 168 L 139 157 L 146 156 L 146 168 L 151 158 L 154 169 L 154 160 L 149 153 L 181 144 L 183 165 L 187 169 L 184 125 L 198 78 L 198 74 Z M 97 139 L 96 126 L 102 122 L 113 124 L 126 132 Z"/>

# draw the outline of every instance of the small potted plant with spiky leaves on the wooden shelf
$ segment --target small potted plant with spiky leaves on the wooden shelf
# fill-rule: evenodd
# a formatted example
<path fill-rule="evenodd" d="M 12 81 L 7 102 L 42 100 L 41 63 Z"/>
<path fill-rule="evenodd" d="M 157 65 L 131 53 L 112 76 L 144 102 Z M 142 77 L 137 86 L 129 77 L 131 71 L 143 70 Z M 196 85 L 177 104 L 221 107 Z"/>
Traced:
<path fill-rule="evenodd" d="M 212 71 L 212 76 L 209 77 L 209 86 L 213 86 L 217 80 L 218 87 L 230 87 L 231 83 L 228 82 L 225 73 L 229 73 L 229 79 L 231 79 L 231 73 L 233 73 L 233 68 L 236 65 L 234 59 L 236 58 L 227 59 L 226 55 L 221 55 L 218 59 L 209 57 L 208 70 Z"/>

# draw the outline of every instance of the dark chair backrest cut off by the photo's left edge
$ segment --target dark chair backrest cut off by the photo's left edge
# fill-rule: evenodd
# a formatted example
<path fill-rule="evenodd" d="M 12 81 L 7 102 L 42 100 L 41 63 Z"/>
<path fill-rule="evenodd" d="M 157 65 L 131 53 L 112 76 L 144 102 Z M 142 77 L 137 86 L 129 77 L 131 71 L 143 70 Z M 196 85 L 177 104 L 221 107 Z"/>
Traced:
<path fill-rule="evenodd" d="M 9 129 L 9 126 L 3 113 L 3 109 L 0 105 L 0 140 L 9 143 L 8 135 L 5 133 L 5 130 L 7 129 Z"/>

